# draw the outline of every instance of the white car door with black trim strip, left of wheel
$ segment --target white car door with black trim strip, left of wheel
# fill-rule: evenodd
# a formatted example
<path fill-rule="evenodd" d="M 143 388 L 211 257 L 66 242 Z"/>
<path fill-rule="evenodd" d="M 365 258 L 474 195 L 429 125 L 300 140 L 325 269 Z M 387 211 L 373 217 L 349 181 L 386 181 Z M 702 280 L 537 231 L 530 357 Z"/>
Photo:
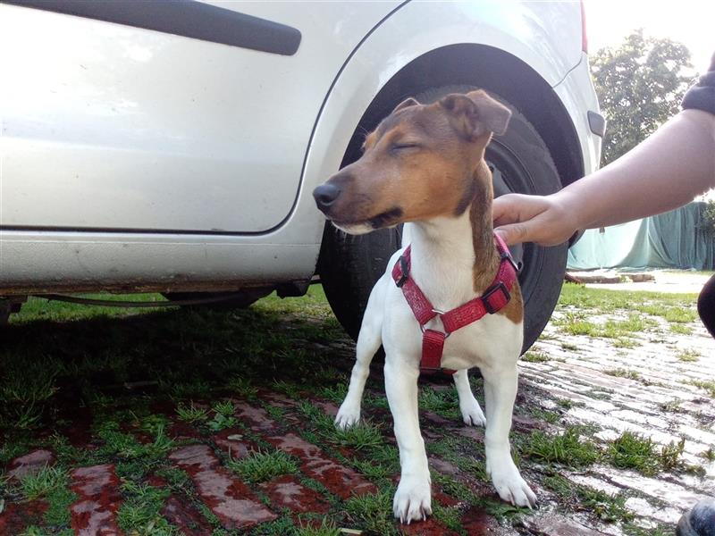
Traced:
<path fill-rule="evenodd" d="M 240 234 L 288 217 L 332 81 L 399 3 L 17 4 L 0 226 Z"/>

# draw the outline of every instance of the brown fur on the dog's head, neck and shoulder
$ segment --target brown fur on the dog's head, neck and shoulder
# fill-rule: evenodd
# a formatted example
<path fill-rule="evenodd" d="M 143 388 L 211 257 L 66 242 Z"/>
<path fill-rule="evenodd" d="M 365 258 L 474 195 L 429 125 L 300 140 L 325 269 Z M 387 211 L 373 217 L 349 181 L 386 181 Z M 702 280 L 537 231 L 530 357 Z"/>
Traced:
<path fill-rule="evenodd" d="M 499 131 L 508 120 L 509 110 L 481 90 L 445 96 L 433 105 L 404 101 L 366 137 L 364 155 L 332 177 L 342 194 L 326 214 L 340 214 L 333 220 L 338 225 L 368 223 L 377 229 L 457 216 L 468 208 L 474 289 L 482 294 L 500 263 L 492 235 L 492 172 L 484 148 L 492 130 Z M 518 284 L 511 296 L 499 314 L 521 322 Z"/>

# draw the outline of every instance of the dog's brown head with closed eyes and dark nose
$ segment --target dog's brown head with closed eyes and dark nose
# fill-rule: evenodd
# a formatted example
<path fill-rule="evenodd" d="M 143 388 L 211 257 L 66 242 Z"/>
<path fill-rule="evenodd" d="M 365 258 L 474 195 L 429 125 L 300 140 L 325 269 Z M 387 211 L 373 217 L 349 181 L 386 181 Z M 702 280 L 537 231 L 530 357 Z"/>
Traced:
<path fill-rule="evenodd" d="M 482 90 L 432 105 L 408 98 L 366 137 L 357 162 L 315 188 L 315 203 L 351 234 L 462 214 L 477 188 L 490 188 L 475 170 L 510 117 Z"/>

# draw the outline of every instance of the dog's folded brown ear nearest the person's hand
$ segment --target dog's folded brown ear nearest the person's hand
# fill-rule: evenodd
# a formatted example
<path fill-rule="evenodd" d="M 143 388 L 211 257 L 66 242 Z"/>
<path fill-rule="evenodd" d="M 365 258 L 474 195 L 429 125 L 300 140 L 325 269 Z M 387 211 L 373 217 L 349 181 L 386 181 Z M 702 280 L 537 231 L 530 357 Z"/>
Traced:
<path fill-rule="evenodd" d="M 489 132 L 503 134 L 511 118 L 509 108 L 482 89 L 466 95 L 453 93 L 443 97 L 439 104 L 451 113 L 454 127 L 472 140 Z"/>

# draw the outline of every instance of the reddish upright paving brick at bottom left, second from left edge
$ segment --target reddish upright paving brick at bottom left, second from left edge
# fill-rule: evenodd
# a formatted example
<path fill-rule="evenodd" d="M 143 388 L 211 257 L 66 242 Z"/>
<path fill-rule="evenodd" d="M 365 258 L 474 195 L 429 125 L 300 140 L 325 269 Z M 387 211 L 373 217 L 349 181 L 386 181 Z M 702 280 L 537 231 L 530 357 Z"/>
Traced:
<path fill-rule="evenodd" d="M 114 465 L 80 467 L 70 473 L 70 478 L 70 488 L 79 496 L 70 507 L 71 526 L 76 536 L 122 534 L 115 521 L 122 494 Z"/>

